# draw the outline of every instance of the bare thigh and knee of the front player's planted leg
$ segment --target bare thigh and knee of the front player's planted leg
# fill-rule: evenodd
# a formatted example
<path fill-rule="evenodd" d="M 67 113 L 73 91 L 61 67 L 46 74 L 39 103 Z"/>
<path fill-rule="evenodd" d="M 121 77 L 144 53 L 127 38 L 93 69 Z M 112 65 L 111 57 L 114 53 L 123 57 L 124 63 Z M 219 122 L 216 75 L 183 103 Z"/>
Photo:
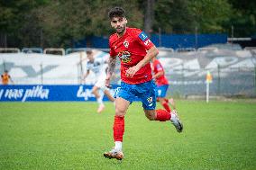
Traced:
<path fill-rule="evenodd" d="M 128 110 L 130 102 L 123 99 L 122 97 L 117 97 L 115 99 L 115 115 L 124 116 Z"/>

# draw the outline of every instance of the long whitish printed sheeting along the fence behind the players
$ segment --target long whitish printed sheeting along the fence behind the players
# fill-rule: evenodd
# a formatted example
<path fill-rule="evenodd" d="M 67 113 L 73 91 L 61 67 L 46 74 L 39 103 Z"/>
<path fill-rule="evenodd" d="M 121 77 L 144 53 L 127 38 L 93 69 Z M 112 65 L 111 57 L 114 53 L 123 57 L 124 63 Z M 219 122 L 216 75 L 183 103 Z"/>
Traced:
<path fill-rule="evenodd" d="M 206 94 L 206 73 L 210 71 L 213 83 L 210 94 L 256 96 L 256 58 L 246 56 L 248 51 L 192 51 L 178 53 L 160 49 L 160 62 L 169 79 L 169 95 L 186 97 Z M 235 56 L 235 55 L 240 56 Z M 251 53 L 250 53 L 251 54 Z M 14 56 L 16 54 L 13 54 Z M 90 74 L 82 80 L 86 71 L 86 61 L 81 63 L 81 56 L 48 57 L 48 62 L 40 55 L 19 54 L 23 56 L 0 55 L 0 71 L 10 71 L 15 85 L 79 85 L 94 83 L 95 76 Z M 105 54 L 104 54 L 105 55 Z M 99 52 L 98 56 L 102 56 Z M 35 59 L 35 63 L 32 60 Z M 20 61 L 18 61 L 20 60 Z M 77 60 L 75 62 L 75 60 Z M 120 83 L 120 61 L 113 77 L 113 84 Z"/>

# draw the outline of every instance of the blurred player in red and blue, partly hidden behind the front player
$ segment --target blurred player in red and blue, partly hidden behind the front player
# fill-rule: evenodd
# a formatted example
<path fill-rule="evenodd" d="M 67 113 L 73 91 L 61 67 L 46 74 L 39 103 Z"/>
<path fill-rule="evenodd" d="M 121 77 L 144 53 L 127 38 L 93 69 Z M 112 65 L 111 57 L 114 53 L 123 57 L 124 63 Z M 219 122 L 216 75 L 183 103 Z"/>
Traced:
<path fill-rule="evenodd" d="M 161 103 L 167 112 L 171 112 L 169 108 L 169 103 L 172 105 L 173 109 L 176 109 L 174 100 L 172 98 L 167 99 L 166 94 L 169 87 L 168 79 L 165 76 L 164 69 L 160 64 L 160 60 L 157 58 L 152 58 L 151 69 L 153 70 L 153 79 L 157 84 L 157 100 Z"/>

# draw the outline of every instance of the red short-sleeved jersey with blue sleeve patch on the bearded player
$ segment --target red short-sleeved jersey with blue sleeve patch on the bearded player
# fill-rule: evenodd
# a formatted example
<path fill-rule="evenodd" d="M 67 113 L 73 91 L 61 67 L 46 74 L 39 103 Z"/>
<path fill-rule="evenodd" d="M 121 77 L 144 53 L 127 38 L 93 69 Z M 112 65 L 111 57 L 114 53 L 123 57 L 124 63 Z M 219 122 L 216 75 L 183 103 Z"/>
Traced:
<path fill-rule="evenodd" d="M 122 37 L 116 33 L 109 38 L 110 57 L 117 56 L 121 61 L 121 80 L 127 84 L 141 84 L 152 79 L 151 64 L 148 63 L 138 70 L 133 77 L 125 76 L 129 67 L 137 65 L 147 54 L 154 44 L 148 36 L 136 28 L 126 27 Z"/>

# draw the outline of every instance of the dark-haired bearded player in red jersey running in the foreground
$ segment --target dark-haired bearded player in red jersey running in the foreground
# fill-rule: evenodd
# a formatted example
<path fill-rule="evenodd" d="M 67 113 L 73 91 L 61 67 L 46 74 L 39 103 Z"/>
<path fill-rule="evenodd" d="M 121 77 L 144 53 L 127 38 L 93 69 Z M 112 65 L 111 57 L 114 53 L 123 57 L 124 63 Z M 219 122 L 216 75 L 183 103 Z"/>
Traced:
<path fill-rule="evenodd" d="M 123 159 L 124 116 L 135 96 L 142 101 L 145 116 L 150 121 L 170 121 L 178 132 L 183 129 L 177 112 L 155 110 L 156 86 L 151 75 L 151 58 L 158 54 L 148 36 L 141 30 L 126 27 L 127 19 L 121 7 L 114 7 L 108 13 L 115 33 L 109 38 L 110 58 L 105 85 L 110 85 L 116 57 L 121 60 L 121 87 L 116 91 L 114 115 L 114 148 L 104 157 Z"/>

